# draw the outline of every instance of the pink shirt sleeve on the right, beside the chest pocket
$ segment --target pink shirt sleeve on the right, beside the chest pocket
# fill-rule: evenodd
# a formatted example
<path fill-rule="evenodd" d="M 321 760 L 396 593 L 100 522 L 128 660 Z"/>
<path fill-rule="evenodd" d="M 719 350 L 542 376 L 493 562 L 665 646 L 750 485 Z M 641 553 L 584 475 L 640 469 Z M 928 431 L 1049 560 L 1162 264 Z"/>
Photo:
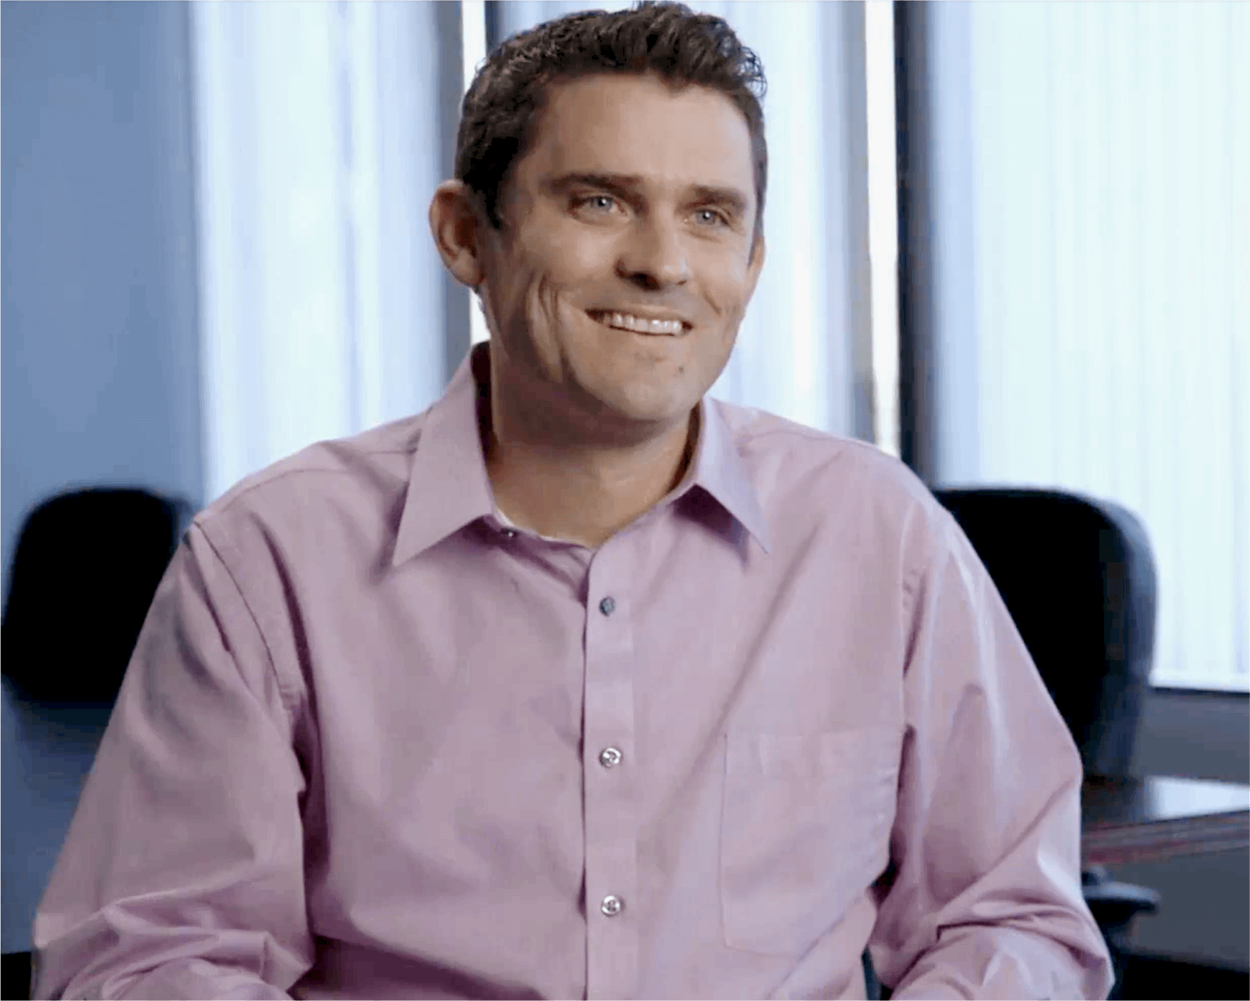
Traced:
<path fill-rule="evenodd" d="M 945 515 L 936 537 L 909 592 L 874 967 L 895 1001 L 1102 1001 L 1112 975 L 1081 896 L 1080 755 L 971 545 Z"/>

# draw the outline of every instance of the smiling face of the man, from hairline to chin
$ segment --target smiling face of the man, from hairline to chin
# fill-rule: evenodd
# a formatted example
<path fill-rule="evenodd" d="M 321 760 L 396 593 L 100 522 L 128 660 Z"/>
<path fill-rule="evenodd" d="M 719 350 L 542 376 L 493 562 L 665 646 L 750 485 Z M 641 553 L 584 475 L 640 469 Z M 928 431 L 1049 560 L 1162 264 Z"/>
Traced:
<path fill-rule="evenodd" d="M 755 211 L 750 132 L 725 95 L 652 76 L 554 86 L 481 247 L 501 391 L 589 434 L 685 420 L 755 289 Z"/>

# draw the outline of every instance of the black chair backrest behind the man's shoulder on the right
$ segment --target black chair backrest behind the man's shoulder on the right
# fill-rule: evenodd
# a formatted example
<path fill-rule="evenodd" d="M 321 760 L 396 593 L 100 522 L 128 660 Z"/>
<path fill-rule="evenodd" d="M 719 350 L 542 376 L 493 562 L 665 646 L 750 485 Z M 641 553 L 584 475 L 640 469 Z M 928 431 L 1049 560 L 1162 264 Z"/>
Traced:
<path fill-rule="evenodd" d="M 1150 685 L 1155 561 L 1138 517 L 1051 490 L 935 490 L 985 564 L 1085 771 L 1128 775 Z"/>

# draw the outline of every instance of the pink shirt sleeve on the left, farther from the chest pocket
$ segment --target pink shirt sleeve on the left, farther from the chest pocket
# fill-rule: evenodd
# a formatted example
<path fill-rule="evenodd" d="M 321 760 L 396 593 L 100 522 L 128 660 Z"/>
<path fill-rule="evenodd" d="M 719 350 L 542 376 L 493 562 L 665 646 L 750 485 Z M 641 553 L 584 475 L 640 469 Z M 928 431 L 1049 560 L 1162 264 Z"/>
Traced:
<path fill-rule="evenodd" d="M 290 701 L 192 527 L 35 915 L 38 1001 L 289 996 L 312 961 Z"/>

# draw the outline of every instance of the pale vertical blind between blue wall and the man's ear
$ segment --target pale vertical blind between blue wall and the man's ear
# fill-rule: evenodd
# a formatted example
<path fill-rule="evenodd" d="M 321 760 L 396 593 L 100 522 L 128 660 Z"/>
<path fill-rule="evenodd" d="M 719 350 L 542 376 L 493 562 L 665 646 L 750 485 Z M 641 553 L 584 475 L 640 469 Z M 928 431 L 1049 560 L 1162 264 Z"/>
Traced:
<path fill-rule="evenodd" d="M 419 412 L 469 346 L 426 211 L 461 96 L 451 2 L 191 5 L 205 492 Z"/>

